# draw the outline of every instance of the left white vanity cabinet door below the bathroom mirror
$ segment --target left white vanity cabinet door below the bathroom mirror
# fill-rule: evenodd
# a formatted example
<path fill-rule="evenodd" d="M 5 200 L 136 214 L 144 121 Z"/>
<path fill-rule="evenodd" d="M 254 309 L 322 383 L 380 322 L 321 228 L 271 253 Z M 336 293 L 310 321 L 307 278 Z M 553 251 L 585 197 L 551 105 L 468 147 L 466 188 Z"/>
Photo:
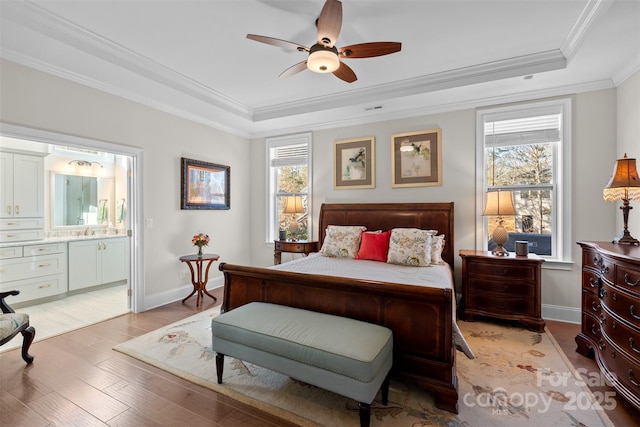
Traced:
<path fill-rule="evenodd" d="M 102 283 L 102 240 L 69 242 L 69 290 Z"/>

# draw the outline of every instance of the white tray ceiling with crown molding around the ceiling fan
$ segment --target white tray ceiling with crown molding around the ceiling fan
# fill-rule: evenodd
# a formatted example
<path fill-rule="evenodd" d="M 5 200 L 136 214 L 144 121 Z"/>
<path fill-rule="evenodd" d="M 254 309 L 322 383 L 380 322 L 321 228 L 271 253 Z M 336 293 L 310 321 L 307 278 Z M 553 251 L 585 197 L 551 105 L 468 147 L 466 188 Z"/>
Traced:
<path fill-rule="evenodd" d="M 248 40 L 311 46 L 324 0 L 0 1 L 0 56 L 257 137 L 615 87 L 640 69 L 640 0 L 343 0 L 358 80 Z M 532 76 L 525 78 L 524 76 Z"/>

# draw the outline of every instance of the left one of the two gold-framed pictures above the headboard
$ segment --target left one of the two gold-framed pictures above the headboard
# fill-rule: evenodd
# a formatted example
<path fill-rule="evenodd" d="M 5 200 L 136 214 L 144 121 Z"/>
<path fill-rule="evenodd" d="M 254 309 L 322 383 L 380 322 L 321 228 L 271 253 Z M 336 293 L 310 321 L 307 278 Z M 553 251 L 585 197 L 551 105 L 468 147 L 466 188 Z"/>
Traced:
<path fill-rule="evenodd" d="M 333 143 L 333 188 L 375 188 L 375 138 Z"/>

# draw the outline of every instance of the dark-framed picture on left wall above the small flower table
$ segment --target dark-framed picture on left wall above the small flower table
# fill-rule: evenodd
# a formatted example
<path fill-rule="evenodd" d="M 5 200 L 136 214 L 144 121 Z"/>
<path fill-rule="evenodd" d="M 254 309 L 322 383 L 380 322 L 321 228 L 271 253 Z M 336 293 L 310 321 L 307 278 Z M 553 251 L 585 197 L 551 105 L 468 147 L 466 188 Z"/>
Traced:
<path fill-rule="evenodd" d="M 229 209 L 230 167 L 182 158 L 181 209 Z"/>

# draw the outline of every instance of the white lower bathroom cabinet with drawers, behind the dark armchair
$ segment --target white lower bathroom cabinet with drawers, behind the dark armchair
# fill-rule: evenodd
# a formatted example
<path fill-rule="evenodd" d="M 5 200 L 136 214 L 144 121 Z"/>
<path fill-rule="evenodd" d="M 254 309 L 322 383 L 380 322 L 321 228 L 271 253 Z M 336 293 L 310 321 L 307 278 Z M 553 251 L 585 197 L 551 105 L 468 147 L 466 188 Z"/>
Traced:
<path fill-rule="evenodd" d="M 0 290 L 20 291 L 12 304 L 67 292 L 67 244 L 1 248 Z"/>

